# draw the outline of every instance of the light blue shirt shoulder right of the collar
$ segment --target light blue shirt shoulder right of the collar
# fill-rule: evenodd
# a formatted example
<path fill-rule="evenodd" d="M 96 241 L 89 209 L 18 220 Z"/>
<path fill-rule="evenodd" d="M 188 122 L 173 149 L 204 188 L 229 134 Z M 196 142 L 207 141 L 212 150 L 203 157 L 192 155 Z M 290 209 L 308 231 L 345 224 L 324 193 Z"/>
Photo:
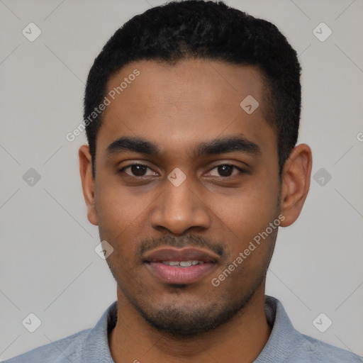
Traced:
<path fill-rule="evenodd" d="M 311 363 L 363 363 L 363 357 L 335 347 L 321 340 L 301 334 L 302 344 L 301 349 L 296 352 L 296 357 L 308 356 Z"/>

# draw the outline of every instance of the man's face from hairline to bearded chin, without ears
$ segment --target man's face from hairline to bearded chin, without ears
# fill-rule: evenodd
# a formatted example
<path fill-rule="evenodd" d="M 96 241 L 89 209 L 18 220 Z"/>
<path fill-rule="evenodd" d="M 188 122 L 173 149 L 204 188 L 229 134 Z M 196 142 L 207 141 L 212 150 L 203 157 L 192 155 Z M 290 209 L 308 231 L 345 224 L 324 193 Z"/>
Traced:
<path fill-rule="evenodd" d="M 140 61 L 109 80 L 108 94 L 125 77 L 97 136 L 89 220 L 113 247 L 125 306 L 175 335 L 216 328 L 264 291 L 277 237 L 277 135 L 261 74 Z M 259 103 L 252 113 L 240 106 L 248 95 Z"/>

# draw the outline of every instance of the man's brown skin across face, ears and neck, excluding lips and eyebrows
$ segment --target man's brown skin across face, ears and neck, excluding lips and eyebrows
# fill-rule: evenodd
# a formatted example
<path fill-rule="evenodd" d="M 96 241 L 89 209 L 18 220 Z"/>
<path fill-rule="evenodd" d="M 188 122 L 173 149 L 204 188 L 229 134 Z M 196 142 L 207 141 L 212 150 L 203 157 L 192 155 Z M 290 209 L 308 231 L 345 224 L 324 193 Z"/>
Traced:
<path fill-rule="evenodd" d="M 118 285 L 118 322 L 108 336 L 113 360 L 253 362 L 271 333 L 264 286 L 277 229 L 218 287 L 211 279 L 279 215 L 283 227 L 298 218 L 310 185 L 311 149 L 305 144 L 294 148 L 280 182 L 277 135 L 266 121 L 266 87 L 255 67 L 208 60 L 175 65 L 138 61 L 111 77 L 108 91 L 135 68 L 138 78 L 104 112 L 95 179 L 89 147 L 79 148 L 88 219 L 114 249 L 107 258 Z M 249 94 L 259 101 L 250 115 L 240 107 Z M 200 143 L 235 135 L 257 144 L 260 153 L 192 153 Z M 108 155 L 108 145 L 121 136 L 155 143 L 160 156 Z M 147 179 L 131 168 L 118 172 L 137 162 L 150 167 L 144 170 Z M 225 176 L 217 168 L 225 164 L 245 172 L 232 169 Z M 167 179 L 176 167 L 186 176 L 179 186 Z M 210 274 L 183 287 L 170 286 L 152 276 L 141 260 L 140 246 L 148 242 L 154 247 L 200 247 L 203 242 L 204 249 L 218 246 L 223 253 Z M 198 319 L 216 327 L 198 332 Z M 167 331 L 168 326 L 179 326 L 184 335 Z"/>

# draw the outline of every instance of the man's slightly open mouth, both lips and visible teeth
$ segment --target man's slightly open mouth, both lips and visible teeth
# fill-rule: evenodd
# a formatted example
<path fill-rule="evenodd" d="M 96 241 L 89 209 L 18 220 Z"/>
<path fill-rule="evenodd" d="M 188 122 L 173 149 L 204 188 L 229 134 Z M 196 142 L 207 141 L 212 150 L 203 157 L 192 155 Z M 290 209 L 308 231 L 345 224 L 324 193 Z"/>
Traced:
<path fill-rule="evenodd" d="M 219 256 L 207 250 L 186 247 L 161 248 L 145 255 L 143 263 L 164 284 L 192 284 L 216 268 Z"/>

